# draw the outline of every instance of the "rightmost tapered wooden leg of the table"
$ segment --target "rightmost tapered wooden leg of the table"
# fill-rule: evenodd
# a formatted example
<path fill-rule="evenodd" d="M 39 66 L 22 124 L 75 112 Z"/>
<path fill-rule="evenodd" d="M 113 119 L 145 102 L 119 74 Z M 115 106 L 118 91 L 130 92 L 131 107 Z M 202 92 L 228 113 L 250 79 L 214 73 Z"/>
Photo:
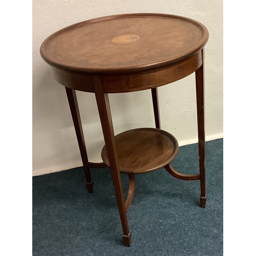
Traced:
<path fill-rule="evenodd" d="M 196 93 L 197 93 L 197 124 L 198 124 L 198 147 L 199 147 L 199 169 L 201 207 L 206 204 L 205 189 L 205 128 L 204 128 L 204 49 L 202 49 L 202 66 L 196 71 Z"/>

